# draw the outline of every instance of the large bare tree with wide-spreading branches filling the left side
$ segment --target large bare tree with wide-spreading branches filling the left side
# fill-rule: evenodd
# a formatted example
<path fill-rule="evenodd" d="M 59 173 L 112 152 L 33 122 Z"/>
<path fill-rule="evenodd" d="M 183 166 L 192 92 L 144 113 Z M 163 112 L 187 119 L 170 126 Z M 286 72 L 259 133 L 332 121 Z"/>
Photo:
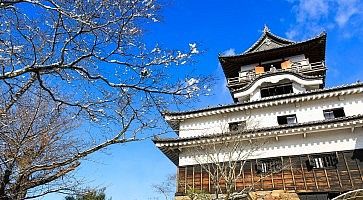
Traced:
<path fill-rule="evenodd" d="M 208 88 L 209 78 L 175 73 L 195 44 L 179 51 L 144 41 L 159 8 L 154 0 L 0 0 L 2 199 L 69 189 L 62 179 L 81 159 L 163 133 L 159 113 Z M 84 123 L 98 132 L 69 136 Z"/>

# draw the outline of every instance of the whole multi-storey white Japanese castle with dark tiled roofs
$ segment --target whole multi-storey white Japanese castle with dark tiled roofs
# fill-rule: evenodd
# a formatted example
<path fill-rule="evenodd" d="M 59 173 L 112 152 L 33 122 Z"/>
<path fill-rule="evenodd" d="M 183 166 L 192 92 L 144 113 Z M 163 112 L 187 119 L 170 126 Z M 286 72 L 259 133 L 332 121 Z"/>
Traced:
<path fill-rule="evenodd" d="M 363 84 L 325 87 L 325 46 L 325 32 L 296 42 L 265 27 L 244 53 L 219 56 L 234 102 L 167 112 L 177 137 L 154 139 L 177 166 L 176 199 L 231 189 L 240 199 L 348 199 L 363 188 Z M 232 182 L 213 167 L 231 160 Z"/>

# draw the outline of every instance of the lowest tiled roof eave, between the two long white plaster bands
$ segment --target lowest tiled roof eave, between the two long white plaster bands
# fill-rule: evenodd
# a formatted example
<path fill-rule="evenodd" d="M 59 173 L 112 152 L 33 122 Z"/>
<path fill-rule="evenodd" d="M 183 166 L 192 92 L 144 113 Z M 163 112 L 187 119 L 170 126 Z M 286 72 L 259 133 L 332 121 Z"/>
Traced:
<path fill-rule="evenodd" d="M 355 115 L 330 120 L 319 120 L 292 125 L 260 128 L 242 132 L 219 133 L 213 135 L 193 136 L 185 138 L 154 138 L 153 142 L 176 166 L 179 164 L 180 147 L 185 145 L 202 145 L 211 142 L 238 140 L 256 140 L 263 137 L 278 138 L 288 135 L 320 133 L 323 130 L 362 127 L 363 115 Z"/>

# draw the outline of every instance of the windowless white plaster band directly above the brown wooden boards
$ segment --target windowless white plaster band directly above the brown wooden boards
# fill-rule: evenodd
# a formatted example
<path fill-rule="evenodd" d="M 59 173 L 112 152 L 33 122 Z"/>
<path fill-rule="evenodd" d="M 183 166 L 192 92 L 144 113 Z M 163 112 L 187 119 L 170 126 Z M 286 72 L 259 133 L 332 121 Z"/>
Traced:
<path fill-rule="evenodd" d="M 246 145 L 245 147 L 248 147 Z M 269 140 L 266 144 L 261 146 L 258 150 L 251 150 L 248 148 L 243 149 L 241 154 L 244 159 L 259 159 L 259 158 L 271 158 L 278 156 L 292 156 L 301 154 L 313 154 L 333 151 L 344 151 L 363 148 L 363 128 L 355 128 L 352 132 L 351 129 L 342 129 L 327 132 L 307 133 L 306 138 L 302 135 L 293 135 L 279 137 L 279 140 Z M 209 156 L 198 155 L 193 150 L 182 150 L 179 155 L 179 165 L 195 165 L 205 163 L 211 160 L 213 156 L 214 160 L 222 162 L 225 159 L 231 158 L 225 154 L 219 154 L 218 158 L 216 151 L 210 150 Z M 244 155 L 251 154 L 245 157 Z M 239 156 L 241 159 L 242 156 Z M 235 157 L 234 159 L 236 159 Z M 238 160 L 240 160 L 238 159 Z"/>

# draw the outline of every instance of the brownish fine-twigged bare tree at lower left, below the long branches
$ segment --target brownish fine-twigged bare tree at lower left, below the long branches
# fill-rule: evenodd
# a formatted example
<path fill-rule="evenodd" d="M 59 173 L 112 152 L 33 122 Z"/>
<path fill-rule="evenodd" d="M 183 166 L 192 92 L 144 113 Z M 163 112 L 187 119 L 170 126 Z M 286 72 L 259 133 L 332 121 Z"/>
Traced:
<path fill-rule="evenodd" d="M 78 125 L 49 97 L 26 95 L 1 117 L 0 199 L 24 199 L 75 188 L 66 176 L 82 143 L 71 133 Z M 48 184 L 52 182 L 52 184 Z"/>

